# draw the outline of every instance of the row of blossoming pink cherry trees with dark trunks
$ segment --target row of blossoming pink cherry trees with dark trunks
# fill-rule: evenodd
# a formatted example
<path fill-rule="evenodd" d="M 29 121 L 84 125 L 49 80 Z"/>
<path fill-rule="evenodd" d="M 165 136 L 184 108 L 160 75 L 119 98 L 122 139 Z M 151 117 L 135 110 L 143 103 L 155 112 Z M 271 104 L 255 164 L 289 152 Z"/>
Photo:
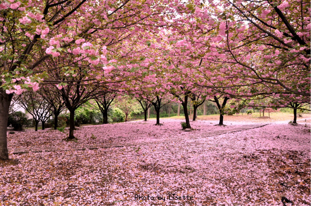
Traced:
<path fill-rule="evenodd" d="M 115 98 L 109 95 L 134 96 L 157 114 L 169 101 L 180 102 L 187 128 L 189 101 L 196 108 L 214 101 L 220 115 L 226 108 L 295 111 L 310 103 L 310 4 L 303 0 L 16 0 L 0 6 L 1 159 L 8 158 L 12 97 L 39 87 L 50 95 L 31 95 L 45 98 L 55 116 L 60 104 L 69 110 L 69 139 L 77 108 L 104 98 L 98 107 L 106 115 Z"/>

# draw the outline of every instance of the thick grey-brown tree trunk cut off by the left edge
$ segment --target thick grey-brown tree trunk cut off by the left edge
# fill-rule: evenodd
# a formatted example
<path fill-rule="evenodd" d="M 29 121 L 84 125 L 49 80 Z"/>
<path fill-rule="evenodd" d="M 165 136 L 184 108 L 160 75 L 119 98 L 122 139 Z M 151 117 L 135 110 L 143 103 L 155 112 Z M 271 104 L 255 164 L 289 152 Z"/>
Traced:
<path fill-rule="evenodd" d="M 9 159 L 7 152 L 7 117 L 13 94 L 0 90 L 0 159 Z"/>

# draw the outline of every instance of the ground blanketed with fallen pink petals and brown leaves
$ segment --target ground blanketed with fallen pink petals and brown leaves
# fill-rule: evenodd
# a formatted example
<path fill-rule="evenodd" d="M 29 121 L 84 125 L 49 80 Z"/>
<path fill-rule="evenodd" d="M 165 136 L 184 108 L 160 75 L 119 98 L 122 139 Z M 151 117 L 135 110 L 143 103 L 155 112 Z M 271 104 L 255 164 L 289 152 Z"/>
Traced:
<path fill-rule="evenodd" d="M 229 118 L 191 132 L 177 118 L 96 125 L 70 142 L 52 130 L 9 134 L 0 205 L 310 205 L 309 117 Z"/>

